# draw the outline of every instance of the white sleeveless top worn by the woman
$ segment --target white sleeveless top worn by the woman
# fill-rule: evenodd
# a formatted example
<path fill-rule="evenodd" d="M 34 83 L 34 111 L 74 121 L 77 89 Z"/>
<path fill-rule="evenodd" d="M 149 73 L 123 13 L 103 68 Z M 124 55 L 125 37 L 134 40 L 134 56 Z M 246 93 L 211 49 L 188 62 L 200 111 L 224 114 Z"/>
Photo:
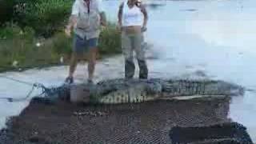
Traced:
<path fill-rule="evenodd" d="M 122 8 L 122 26 L 142 26 L 142 12 L 138 6 L 129 8 L 127 0 Z"/>

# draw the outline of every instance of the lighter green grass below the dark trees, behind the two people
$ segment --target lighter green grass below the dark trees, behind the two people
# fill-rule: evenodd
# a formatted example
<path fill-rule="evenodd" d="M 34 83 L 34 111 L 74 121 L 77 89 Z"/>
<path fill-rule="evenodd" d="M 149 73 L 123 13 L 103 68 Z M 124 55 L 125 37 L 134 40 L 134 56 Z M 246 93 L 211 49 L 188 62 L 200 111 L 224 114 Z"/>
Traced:
<path fill-rule="evenodd" d="M 30 28 L 21 30 L 18 26 L 6 26 L 0 29 L 0 72 L 66 65 L 72 52 L 72 42 L 72 38 L 67 38 L 63 32 L 40 39 L 34 37 L 34 31 Z M 40 46 L 37 46 L 38 43 Z M 110 24 L 100 35 L 100 58 L 120 52 L 119 32 Z M 64 62 L 60 62 L 62 57 Z"/>

